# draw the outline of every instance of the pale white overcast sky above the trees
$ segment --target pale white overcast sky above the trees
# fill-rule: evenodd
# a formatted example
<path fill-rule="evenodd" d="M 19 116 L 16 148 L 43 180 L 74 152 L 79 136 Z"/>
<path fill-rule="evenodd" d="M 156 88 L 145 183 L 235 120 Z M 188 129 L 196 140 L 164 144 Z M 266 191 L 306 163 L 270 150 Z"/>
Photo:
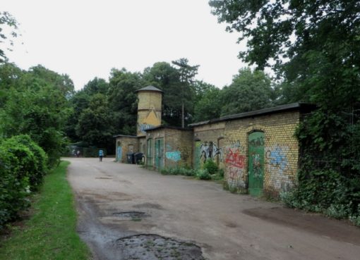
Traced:
<path fill-rule="evenodd" d="M 188 58 L 200 65 L 198 80 L 229 85 L 239 68 L 236 33 L 225 32 L 208 0 L 2 0 L 22 34 L 11 62 L 28 69 L 41 64 L 66 73 L 80 89 L 112 68 L 131 72 L 157 61 Z"/>

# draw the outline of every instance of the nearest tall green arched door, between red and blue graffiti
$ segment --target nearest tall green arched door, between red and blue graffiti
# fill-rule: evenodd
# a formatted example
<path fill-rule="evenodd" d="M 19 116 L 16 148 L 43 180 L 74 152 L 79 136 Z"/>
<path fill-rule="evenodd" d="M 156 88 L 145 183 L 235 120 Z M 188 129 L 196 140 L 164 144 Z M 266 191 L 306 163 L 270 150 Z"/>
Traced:
<path fill-rule="evenodd" d="M 248 135 L 248 193 L 253 196 L 261 196 L 263 184 L 264 133 L 252 132 Z"/>

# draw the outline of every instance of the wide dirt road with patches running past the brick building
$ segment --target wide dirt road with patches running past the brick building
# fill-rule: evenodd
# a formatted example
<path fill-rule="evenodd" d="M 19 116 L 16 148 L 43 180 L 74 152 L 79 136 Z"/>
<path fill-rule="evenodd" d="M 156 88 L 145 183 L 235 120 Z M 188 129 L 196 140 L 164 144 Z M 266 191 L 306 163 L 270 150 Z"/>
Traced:
<path fill-rule="evenodd" d="M 215 182 L 113 159 L 66 159 L 94 259 L 360 259 L 360 228 Z"/>

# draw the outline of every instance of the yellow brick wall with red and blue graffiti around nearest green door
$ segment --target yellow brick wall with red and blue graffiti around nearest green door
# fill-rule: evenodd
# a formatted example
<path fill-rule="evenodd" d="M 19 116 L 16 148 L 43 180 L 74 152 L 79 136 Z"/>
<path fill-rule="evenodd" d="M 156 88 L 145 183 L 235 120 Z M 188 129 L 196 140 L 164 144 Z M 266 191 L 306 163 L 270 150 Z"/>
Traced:
<path fill-rule="evenodd" d="M 248 188 L 248 134 L 264 132 L 264 193 L 277 196 L 294 185 L 299 144 L 294 137 L 299 112 L 229 120 L 224 130 L 225 181 L 238 190 Z"/>

